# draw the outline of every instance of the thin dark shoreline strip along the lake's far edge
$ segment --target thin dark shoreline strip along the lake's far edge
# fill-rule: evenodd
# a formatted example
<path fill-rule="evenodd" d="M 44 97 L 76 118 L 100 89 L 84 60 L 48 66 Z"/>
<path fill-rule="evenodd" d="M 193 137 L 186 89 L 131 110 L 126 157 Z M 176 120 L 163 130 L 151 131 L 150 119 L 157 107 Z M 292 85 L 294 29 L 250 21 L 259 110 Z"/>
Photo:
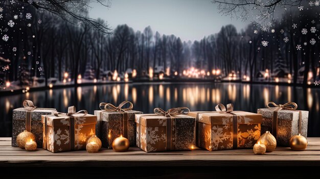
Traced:
<path fill-rule="evenodd" d="M 310 85 L 304 85 L 304 84 L 293 84 L 293 83 L 284 83 L 284 82 L 260 82 L 260 81 L 254 81 L 254 82 L 247 82 L 247 81 L 240 81 L 240 80 L 234 80 L 234 81 L 215 81 L 213 79 L 163 79 L 163 80 L 149 80 L 149 79 L 139 79 L 134 81 L 107 81 L 107 82 L 87 82 L 87 83 L 80 83 L 80 84 L 59 84 L 59 85 L 53 85 L 52 88 L 49 86 L 40 86 L 40 87 L 30 87 L 28 92 L 33 91 L 41 91 L 41 90 L 50 90 L 50 89 L 61 89 L 61 88 L 71 88 L 71 87 L 82 87 L 82 86 L 96 86 L 96 85 L 113 85 L 113 84 L 135 84 L 135 83 L 241 83 L 241 84 L 260 84 L 260 85 L 280 85 L 280 86 L 292 86 L 292 87 L 302 87 L 302 88 L 319 88 L 318 86 L 314 84 Z M 16 90 L 0 90 L 0 95 L 15 95 L 15 94 L 21 94 L 24 88 L 16 89 Z"/>

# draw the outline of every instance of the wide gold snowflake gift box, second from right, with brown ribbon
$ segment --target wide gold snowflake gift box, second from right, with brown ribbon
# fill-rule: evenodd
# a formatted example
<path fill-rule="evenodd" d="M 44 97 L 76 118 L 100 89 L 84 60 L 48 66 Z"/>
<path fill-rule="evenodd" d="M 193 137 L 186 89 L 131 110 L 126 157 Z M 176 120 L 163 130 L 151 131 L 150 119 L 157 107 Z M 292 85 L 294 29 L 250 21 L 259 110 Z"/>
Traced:
<path fill-rule="evenodd" d="M 220 108 L 221 109 L 220 109 Z M 216 112 L 190 112 L 198 122 L 197 145 L 207 150 L 252 148 L 261 134 L 261 115 L 233 111 L 219 104 Z"/>

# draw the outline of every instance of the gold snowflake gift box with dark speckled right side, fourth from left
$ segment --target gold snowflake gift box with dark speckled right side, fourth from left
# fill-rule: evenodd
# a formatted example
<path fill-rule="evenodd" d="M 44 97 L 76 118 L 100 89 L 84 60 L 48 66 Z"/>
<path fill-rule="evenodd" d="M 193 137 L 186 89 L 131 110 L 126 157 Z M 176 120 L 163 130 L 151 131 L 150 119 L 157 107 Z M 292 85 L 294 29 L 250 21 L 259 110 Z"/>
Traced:
<path fill-rule="evenodd" d="M 136 114 L 136 145 L 146 152 L 192 149 L 195 118 L 182 110 L 156 108 L 155 114 Z"/>

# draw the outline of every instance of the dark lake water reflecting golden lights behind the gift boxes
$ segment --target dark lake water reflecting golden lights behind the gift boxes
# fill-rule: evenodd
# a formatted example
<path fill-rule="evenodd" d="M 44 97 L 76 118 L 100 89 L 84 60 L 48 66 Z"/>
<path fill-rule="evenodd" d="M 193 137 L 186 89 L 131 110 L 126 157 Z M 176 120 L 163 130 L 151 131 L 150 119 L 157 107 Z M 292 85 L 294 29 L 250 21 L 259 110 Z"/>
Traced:
<path fill-rule="evenodd" d="M 0 98 L 0 137 L 10 137 L 12 110 L 30 99 L 37 107 L 56 108 L 66 112 L 68 106 L 90 114 L 99 103 L 119 105 L 132 101 L 134 109 L 153 113 L 160 107 L 188 107 L 191 111 L 213 111 L 218 103 L 233 103 L 235 110 L 257 112 L 269 101 L 284 104 L 294 101 L 299 110 L 309 111 L 308 137 L 320 137 L 319 88 L 241 83 L 130 83 L 26 92 Z"/>

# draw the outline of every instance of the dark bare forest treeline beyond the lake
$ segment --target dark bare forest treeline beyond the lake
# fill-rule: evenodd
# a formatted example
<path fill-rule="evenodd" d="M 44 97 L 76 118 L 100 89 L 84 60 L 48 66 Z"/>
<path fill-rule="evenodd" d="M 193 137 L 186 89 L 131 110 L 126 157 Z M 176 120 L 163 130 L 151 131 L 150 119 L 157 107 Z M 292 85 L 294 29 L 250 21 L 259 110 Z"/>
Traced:
<path fill-rule="evenodd" d="M 10 37 L 0 43 L 0 56 L 10 60 L 3 80 L 23 81 L 43 76 L 48 84 L 49 78 L 61 81 L 63 73 L 68 72 L 77 83 L 78 74 L 83 76 L 88 68 L 96 79 L 101 79 L 108 70 L 124 73 L 128 68 L 136 69 L 141 77 L 150 67 L 158 66 L 178 74 L 189 67 L 205 71 L 220 69 L 224 76 L 234 72 L 241 78 L 250 76 L 250 81 L 265 69 L 271 74 L 287 71 L 293 83 L 307 84 L 309 71 L 313 80 L 319 78 L 320 23 L 315 10 L 303 14 L 287 12 L 269 27 L 261 28 L 253 22 L 245 30 L 237 31 L 234 25 L 225 25 L 219 33 L 194 42 L 181 41 L 175 35 L 161 35 L 150 26 L 144 31 L 134 31 L 121 24 L 109 34 L 85 23 L 70 23 L 46 11 L 32 7 L 28 10 L 32 19 L 20 20 L 12 28 L 8 27 L 8 21 L 14 18 L 14 13 L 8 13 L 0 21 L 2 36 Z M 106 24 L 102 19 L 97 21 Z M 6 33 L 5 27 L 9 29 Z M 315 33 L 310 32 L 312 27 L 316 28 Z M 302 34 L 302 29 L 308 33 Z M 316 42 L 311 44 L 311 39 Z M 0 62 L 1 66 L 6 63 Z"/>

